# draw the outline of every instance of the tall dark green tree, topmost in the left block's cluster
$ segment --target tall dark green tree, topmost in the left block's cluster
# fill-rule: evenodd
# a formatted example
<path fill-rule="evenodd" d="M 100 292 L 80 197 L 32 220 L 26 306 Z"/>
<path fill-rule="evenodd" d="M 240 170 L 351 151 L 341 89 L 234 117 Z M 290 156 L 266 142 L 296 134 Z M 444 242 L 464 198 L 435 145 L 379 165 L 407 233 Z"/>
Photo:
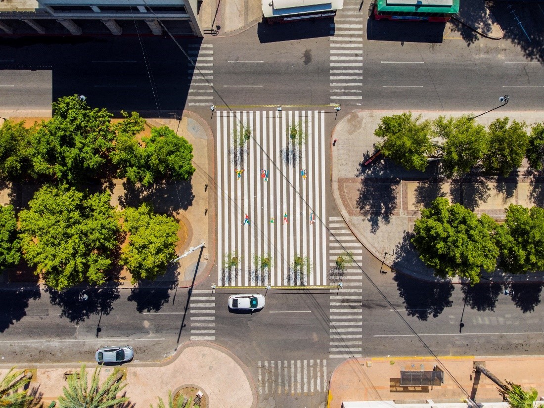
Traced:
<path fill-rule="evenodd" d="M 113 149 L 106 109 L 92 109 L 77 95 L 53 103 L 53 118 L 33 134 L 33 164 L 40 175 L 65 182 L 100 177 Z"/>

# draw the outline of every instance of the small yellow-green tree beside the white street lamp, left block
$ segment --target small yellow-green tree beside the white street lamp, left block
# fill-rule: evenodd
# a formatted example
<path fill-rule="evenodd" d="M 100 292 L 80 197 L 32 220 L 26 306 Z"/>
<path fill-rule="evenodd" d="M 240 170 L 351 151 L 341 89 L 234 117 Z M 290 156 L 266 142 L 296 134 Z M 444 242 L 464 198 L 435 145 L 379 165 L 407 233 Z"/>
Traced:
<path fill-rule="evenodd" d="M 149 203 L 123 211 L 123 228 L 129 233 L 121 263 L 132 274 L 132 283 L 156 279 L 176 254 L 178 223 L 167 215 L 153 213 Z"/>

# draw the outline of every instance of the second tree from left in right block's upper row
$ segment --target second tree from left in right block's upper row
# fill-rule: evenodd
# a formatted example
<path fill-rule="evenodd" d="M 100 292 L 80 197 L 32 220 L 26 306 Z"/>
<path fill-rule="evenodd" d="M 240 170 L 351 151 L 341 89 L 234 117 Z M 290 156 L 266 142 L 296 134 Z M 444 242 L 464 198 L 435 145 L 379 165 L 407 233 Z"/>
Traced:
<path fill-rule="evenodd" d="M 441 146 L 442 168 L 448 176 L 468 173 L 484 156 L 487 132 L 472 116 L 435 121 L 435 136 L 444 139 Z"/>

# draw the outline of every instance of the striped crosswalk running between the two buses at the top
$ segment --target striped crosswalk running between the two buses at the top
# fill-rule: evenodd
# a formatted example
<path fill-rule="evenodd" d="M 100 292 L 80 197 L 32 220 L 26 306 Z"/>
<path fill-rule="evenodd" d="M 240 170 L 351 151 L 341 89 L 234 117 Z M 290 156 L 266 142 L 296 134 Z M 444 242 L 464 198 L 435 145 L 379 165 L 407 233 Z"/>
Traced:
<path fill-rule="evenodd" d="M 360 0 L 344 0 L 331 24 L 331 102 L 363 99 L 363 24 Z"/>

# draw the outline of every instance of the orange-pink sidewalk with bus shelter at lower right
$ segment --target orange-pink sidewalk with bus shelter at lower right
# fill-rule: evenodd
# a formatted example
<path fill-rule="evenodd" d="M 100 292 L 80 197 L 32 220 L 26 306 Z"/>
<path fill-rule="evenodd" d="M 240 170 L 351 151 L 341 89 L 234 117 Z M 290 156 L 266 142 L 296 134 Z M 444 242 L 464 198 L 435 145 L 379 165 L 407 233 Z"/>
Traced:
<path fill-rule="evenodd" d="M 438 357 L 443 364 L 444 384 L 441 386 L 400 386 L 401 370 L 432 371 L 436 360 L 428 357 L 351 358 L 340 364 L 329 382 L 328 408 L 340 408 L 342 401 L 395 401 L 395 403 L 461 403 L 467 398 L 454 382 L 459 381 L 476 402 L 502 401 L 497 385 L 483 374 L 474 374 L 475 361 L 484 362 L 501 381 L 534 387 L 544 394 L 544 356 L 502 357 Z"/>

